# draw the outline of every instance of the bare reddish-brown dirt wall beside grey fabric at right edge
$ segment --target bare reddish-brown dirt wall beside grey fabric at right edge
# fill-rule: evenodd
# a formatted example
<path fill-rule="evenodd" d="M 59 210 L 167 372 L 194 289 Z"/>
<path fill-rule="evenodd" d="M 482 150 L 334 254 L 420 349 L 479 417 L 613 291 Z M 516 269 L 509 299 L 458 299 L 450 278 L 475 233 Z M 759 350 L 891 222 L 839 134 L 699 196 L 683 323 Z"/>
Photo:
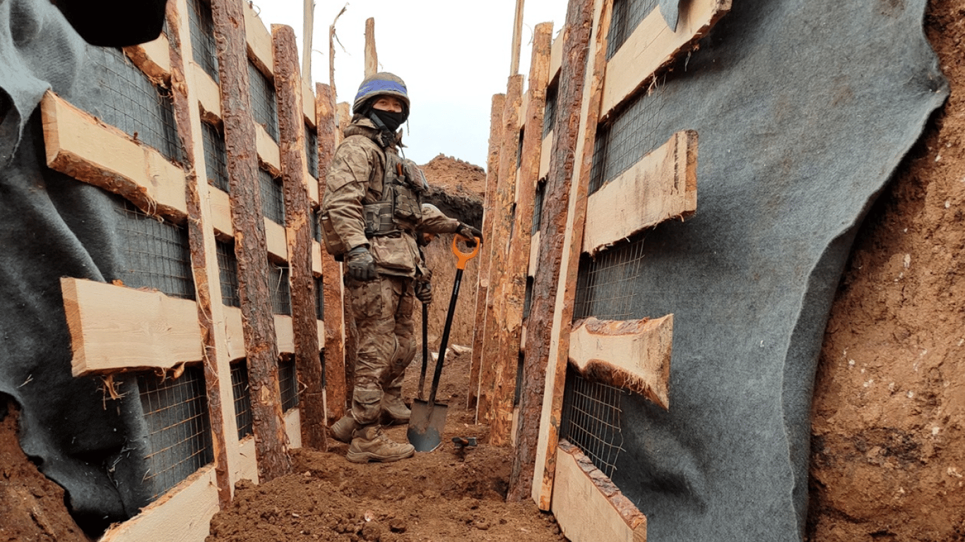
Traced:
<path fill-rule="evenodd" d="M 870 210 L 813 401 L 809 539 L 965 540 L 965 1 L 925 29 L 951 83 Z"/>

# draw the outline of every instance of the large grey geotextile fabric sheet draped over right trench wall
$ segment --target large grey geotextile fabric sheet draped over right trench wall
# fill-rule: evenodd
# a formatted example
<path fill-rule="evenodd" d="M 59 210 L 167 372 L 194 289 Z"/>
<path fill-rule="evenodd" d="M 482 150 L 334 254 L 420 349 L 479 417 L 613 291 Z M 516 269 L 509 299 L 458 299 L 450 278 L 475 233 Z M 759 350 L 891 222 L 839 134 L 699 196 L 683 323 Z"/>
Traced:
<path fill-rule="evenodd" d="M 646 98 L 647 149 L 681 129 L 700 139 L 697 214 L 646 233 L 633 279 L 634 316 L 675 315 L 670 410 L 624 399 L 613 476 L 651 542 L 802 539 L 841 270 L 948 95 L 924 5 L 735 0 Z"/>

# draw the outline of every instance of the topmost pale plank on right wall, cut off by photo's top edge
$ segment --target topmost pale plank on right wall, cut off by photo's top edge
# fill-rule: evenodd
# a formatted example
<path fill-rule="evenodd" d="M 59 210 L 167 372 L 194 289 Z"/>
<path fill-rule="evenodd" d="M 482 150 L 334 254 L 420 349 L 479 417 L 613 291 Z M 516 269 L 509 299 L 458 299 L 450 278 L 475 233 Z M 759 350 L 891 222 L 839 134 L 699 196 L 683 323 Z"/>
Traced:
<path fill-rule="evenodd" d="M 667 26 L 659 9 L 650 12 L 606 65 L 601 118 L 646 86 L 657 70 L 703 38 L 730 11 L 731 0 L 681 2 L 676 32 Z"/>

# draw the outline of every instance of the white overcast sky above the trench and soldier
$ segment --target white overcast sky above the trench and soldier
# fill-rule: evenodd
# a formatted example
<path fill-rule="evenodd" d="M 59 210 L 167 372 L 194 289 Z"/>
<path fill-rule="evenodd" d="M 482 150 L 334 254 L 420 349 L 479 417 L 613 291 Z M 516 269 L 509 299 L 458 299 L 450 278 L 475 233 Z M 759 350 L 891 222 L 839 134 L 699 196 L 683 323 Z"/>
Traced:
<path fill-rule="evenodd" d="M 294 29 L 300 64 L 301 0 L 252 5 L 269 30 L 271 24 Z M 335 24 L 335 85 L 338 101 L 351 103 L 365 75 L 365 21 L 374 17 L 379 69 L 399 75 L 412 101 L 405 155 L 425 164 L 442 153 L 485 168 L 492 95 L 506 92 L 510 76 L 515 6 L 515 0 L 316 0 L 312 79 L 329 82 L 328 28 L 345 7 Z M 565 15 L 566 0 L 526 0 L 520 73 L 529 75 L 536 25 L 552 22 L 555 38 Z"/>

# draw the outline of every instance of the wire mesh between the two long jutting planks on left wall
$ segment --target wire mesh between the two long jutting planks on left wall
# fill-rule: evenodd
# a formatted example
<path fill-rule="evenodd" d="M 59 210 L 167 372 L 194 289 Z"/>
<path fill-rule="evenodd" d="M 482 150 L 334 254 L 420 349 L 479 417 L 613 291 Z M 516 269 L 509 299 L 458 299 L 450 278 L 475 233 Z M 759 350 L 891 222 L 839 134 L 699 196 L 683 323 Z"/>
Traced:
<path fill-rule="evenodd" d="M 114 199 L 124 266 L 121 281 L 153 288 L 172 297 L 194 299 L 194 276 L 187 230 L 145 214 L 123 198 Z"/>

